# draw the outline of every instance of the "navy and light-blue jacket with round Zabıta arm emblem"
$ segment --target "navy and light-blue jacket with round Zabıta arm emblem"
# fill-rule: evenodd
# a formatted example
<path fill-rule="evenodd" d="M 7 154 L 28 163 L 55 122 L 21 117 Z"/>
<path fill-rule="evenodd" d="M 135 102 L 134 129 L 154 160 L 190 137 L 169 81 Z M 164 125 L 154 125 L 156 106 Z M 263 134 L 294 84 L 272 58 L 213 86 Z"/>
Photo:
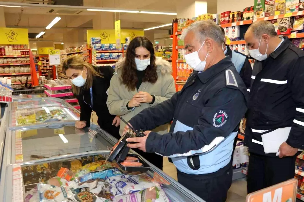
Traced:
<path fill-rule="evenodd" d="M 247 110 L 247 89 L 229 58 L 206 71 L 194 72 L 184 88 L 130 123 L 151 130 L 173 119 L 169 133 L 151 132 L 149 153 L 171 157 L 181 172 L 213 173 L 231 160 L 233 140 Z"/>

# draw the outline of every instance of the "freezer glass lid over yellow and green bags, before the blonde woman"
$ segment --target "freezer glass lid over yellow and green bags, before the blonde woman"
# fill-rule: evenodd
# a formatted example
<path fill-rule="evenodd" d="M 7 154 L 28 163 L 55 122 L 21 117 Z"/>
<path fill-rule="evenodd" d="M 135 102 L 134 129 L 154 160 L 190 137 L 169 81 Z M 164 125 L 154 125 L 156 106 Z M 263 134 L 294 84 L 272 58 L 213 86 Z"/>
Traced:
<path fill-rule="evenodd" d="M 18 109 L 12 112 L 10 127 L 42 123 L 48 120 L 79 120 L 79 113 L 74 109 L 60 106 Z"/>

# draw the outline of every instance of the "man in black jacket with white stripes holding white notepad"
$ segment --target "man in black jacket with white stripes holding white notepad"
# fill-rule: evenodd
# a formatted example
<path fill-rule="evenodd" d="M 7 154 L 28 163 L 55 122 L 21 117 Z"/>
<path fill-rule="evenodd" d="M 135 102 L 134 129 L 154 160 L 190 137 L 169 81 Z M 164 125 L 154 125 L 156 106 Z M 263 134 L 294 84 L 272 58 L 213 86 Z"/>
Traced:
<path fill-rule="evenodd" d="M 245 131 L 251 193 L 294 177 L 298 149 L 304 148 L 304 52 L 279 38 L 268 21 L 250 25 L 245 40 L 256 59 Z M 269 136 L 271 143 L 265 140 Z M 286 141 L 275 144 L 282 137 Z"/>

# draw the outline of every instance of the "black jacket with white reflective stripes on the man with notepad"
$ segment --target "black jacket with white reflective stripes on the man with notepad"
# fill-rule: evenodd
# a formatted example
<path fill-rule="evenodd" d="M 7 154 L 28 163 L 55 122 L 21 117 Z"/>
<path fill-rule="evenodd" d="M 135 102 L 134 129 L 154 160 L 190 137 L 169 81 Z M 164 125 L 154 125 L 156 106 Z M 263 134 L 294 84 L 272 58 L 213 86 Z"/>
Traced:
<path fill-rule="evenodd" d="M 266 60 L 255 60 L 252 72 L 245 144 L 262 155 L 263 145 L 255 142 L 285 127 L 291 127 L 286 143 L 304 149 L 304 52 L 284 39 Z"/>

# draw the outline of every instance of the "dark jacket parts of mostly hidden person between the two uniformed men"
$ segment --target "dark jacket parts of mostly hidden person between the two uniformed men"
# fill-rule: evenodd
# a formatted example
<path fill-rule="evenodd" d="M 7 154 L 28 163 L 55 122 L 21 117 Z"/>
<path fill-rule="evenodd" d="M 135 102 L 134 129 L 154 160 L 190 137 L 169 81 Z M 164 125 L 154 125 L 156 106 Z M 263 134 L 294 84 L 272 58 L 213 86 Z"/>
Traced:
<path fill-rule="evenodd" d="M 232 50 L 229 48 L 228 45 L 226 45 L 226 48 L 227 48 L 226 56 L 231 58 L 232 57 Z M 234 52 L 236 52 L 237 54 L 244 55 L 243 53 L 240 53 L 238 51 L 234 51 Z M 244 56 L 246 56 L 246 55 L 244 55 Z M 250 87 L 250 84 L 251 84 L 251 74 L 252 74 L 252 67 L 251 67 L 250 62 L 248 60 L 248 57 L 246 56 L 244 65 L 243 65 L 243 67 L 240 71 L 240 76 L 243 79 L 247 89 Z"/>

